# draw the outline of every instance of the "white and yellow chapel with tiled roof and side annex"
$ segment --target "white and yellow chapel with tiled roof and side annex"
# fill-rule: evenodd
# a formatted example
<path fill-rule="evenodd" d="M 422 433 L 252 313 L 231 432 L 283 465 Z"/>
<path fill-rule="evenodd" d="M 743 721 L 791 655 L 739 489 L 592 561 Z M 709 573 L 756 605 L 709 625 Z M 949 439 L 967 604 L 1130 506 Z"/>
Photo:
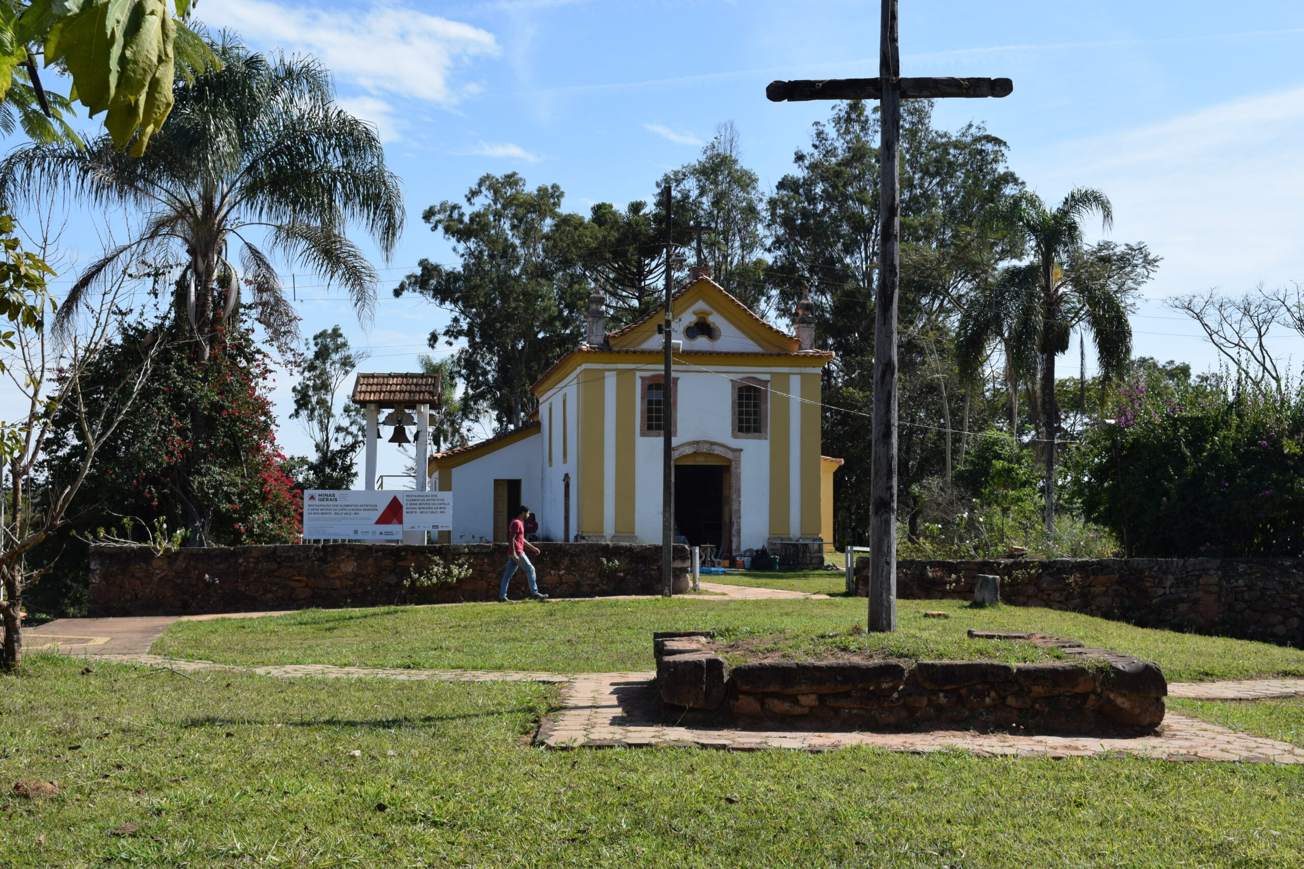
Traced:
<path fill-rule="evenodd" d="M 823 563 L 842 460 L 820 455 L 820 371 L 833 353 L 814 347 L 810 302 L 798 304 L 789 335 L 694 268 L 672 297 L 679 340 L 669 393 L 664 310 L 608 332 L 595 292 L 585 343 L 531 387 L 533 417 L 430 459 L 434 485 L 452 492 L 452 530 L 441 542 L 506 541 L 527 504 L 544 541 L 659 543 L 669 426 L 679 542 Z"/>

